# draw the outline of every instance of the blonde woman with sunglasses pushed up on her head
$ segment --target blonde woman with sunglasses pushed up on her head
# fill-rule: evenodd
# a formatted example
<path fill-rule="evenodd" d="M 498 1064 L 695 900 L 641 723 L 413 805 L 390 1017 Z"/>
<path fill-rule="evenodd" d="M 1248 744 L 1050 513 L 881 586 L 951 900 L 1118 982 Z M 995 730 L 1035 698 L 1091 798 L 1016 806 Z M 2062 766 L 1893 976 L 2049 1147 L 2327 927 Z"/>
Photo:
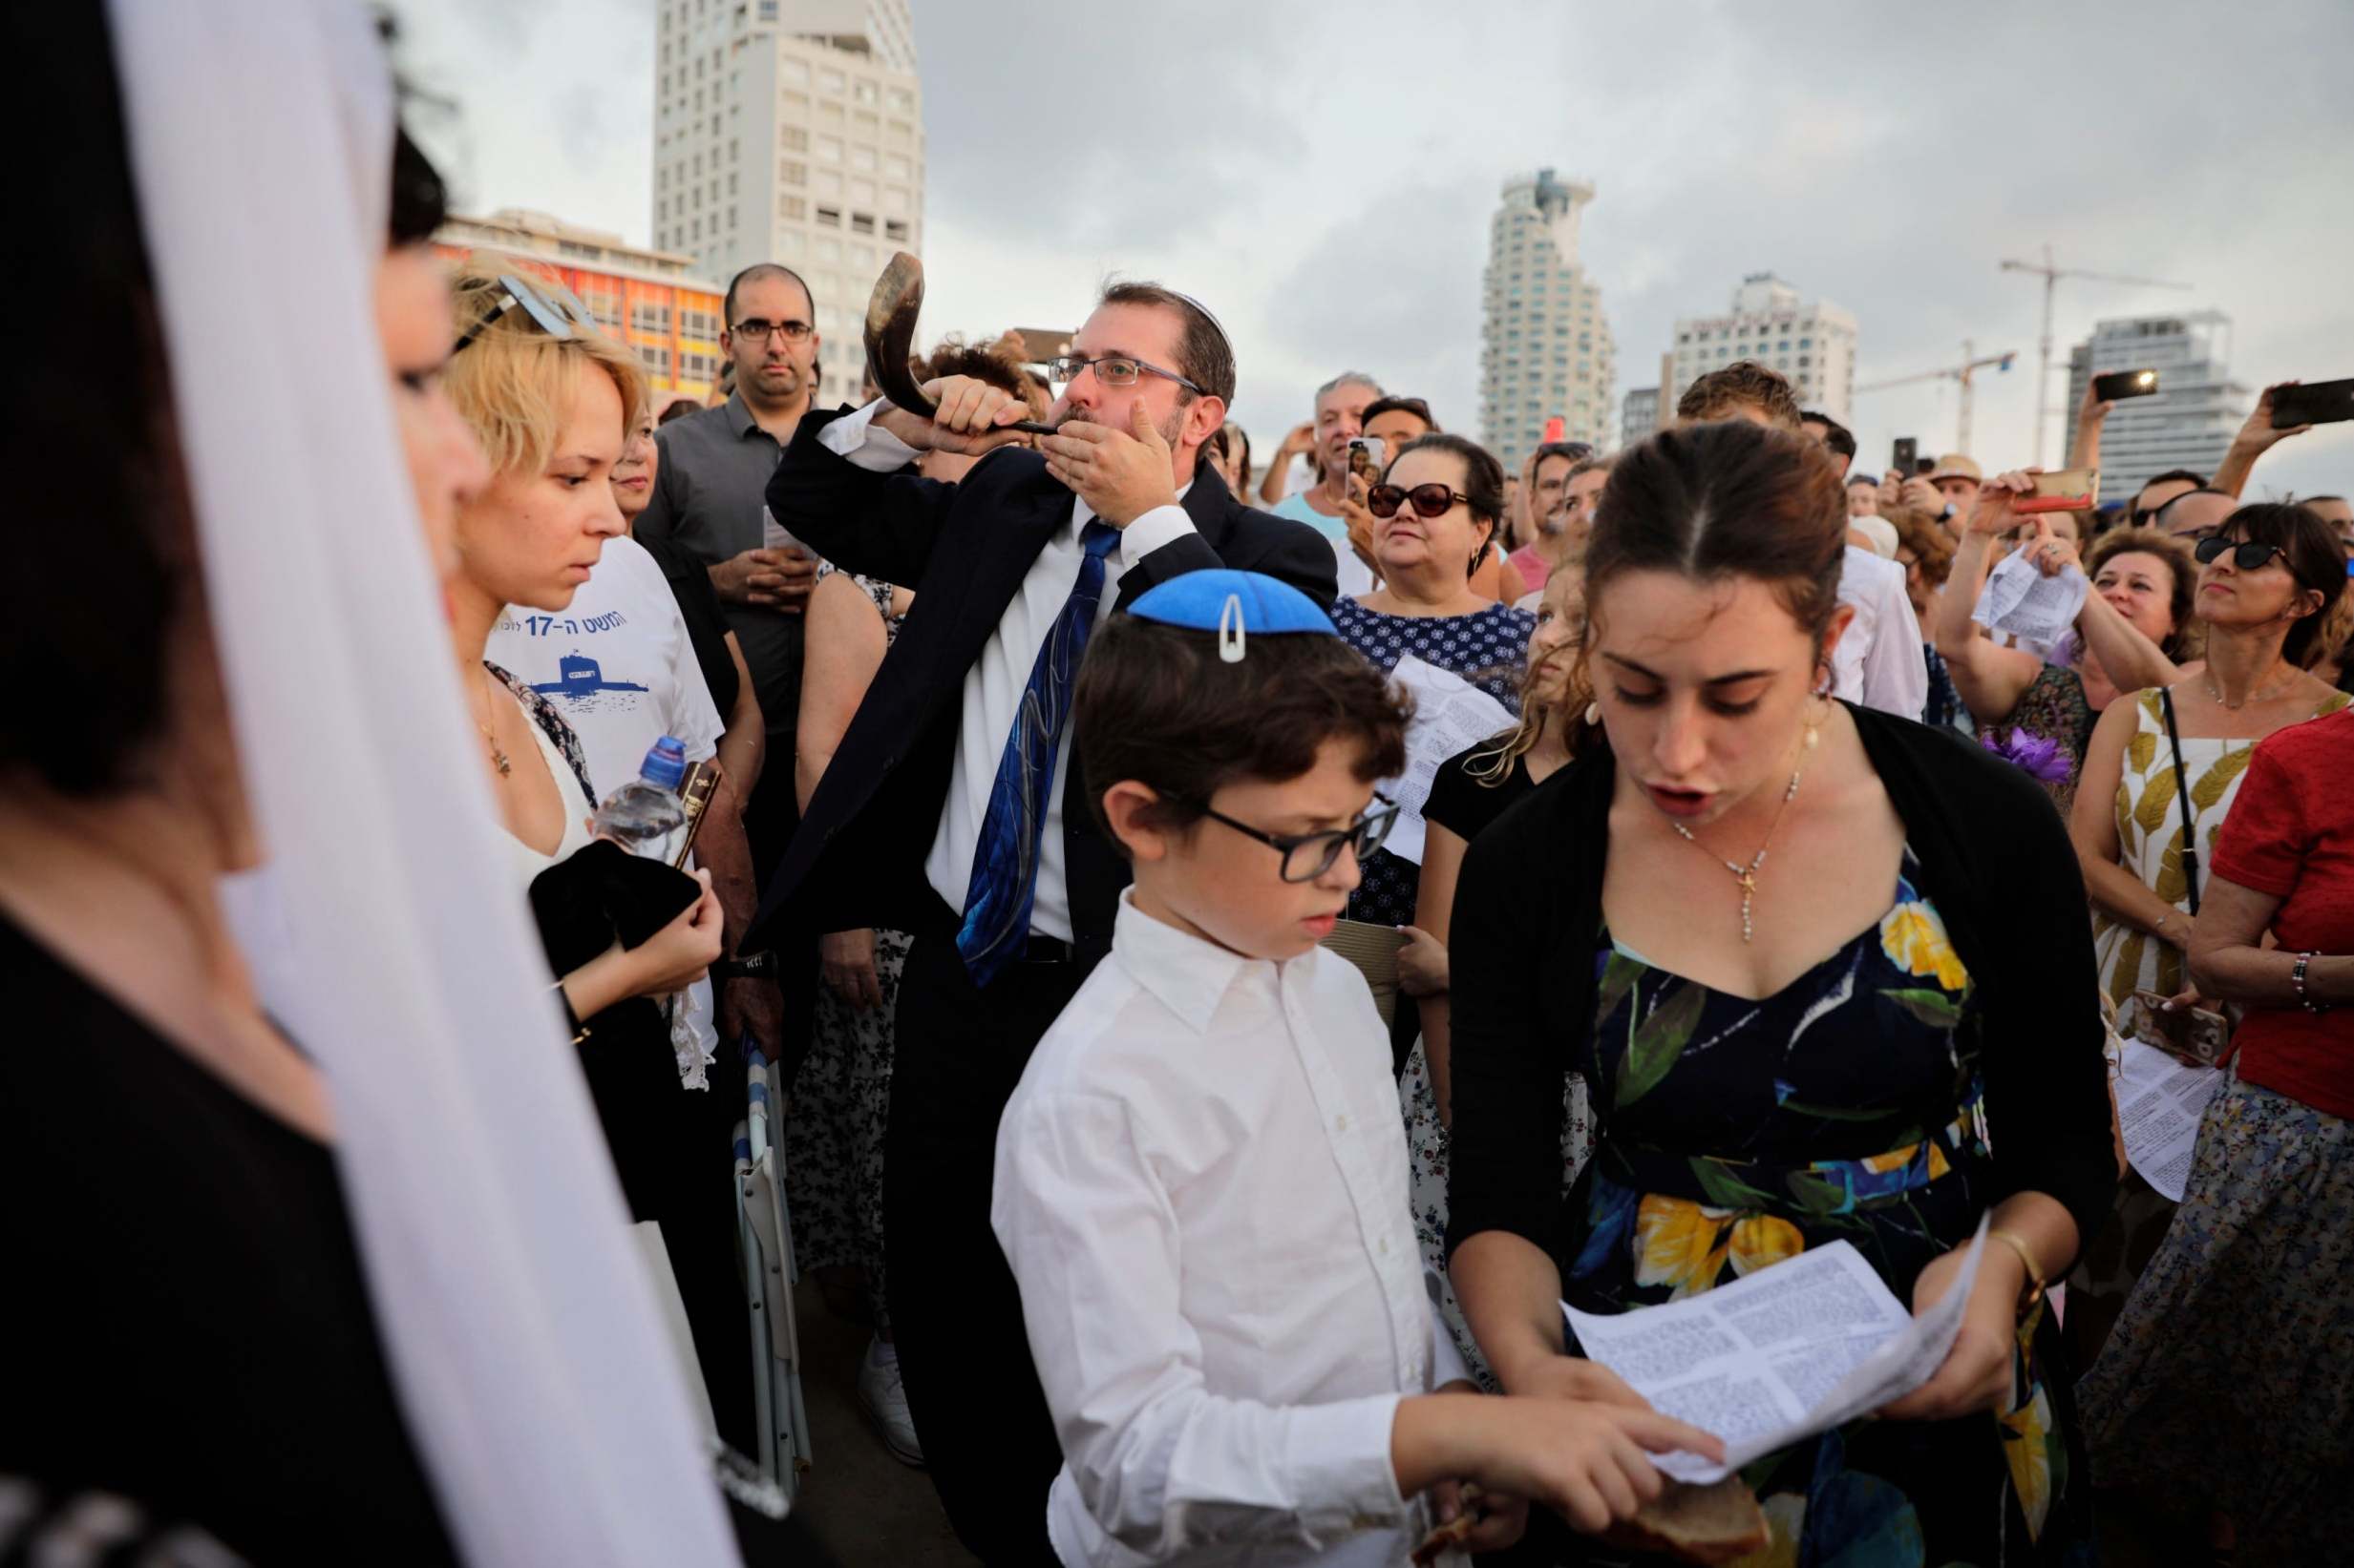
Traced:
<path fill-rule="evenodd" d="M 492 477 L 457 512 L 450 649 L 520 896 L 588 846 L 598 785 L 572 726 L 483 651 L 508 604 L 567 609 L 605 541 L 624 531 L 612 470 L 645 402 L 645 376 L 577 299 L 520 261 L 471 259 L 454 301 L 459 334 L 443 383 L 483 442 Z M 723 1147 L 699 1138 L 704 1103 L 680 1088 L 661 1011 L 638 1001 L 692 985 L 720 954 L 720 905 L 709 872 L 697 879 L 699 896 L 669 926 L 560 969 L 558 992 L 586 1025 L 581 1070 L 631 1215 L 661 1227 L 720 1436 L 749 1450 L 751 1359 L 734 1215 L 718 1175 Z M 546 919 L 541 936 L 556 936 Z M 551 954 L 551 964 L 563 961 Z"/>

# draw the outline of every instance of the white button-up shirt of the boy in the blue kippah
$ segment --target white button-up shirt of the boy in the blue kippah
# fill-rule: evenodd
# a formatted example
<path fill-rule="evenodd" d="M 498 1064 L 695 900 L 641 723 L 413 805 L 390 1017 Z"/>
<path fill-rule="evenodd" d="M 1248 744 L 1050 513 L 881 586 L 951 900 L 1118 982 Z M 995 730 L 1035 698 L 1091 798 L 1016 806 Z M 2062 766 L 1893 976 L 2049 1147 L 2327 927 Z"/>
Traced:
<path fill-rule="evenodd" d="M 1464 1378 L 1424 1288 L 1389 1030 L 1311 950 L 1121 893 L 998 1124 L 989 1220 L 1062 1439 L 1069 1568 L 1401 1563 L 1398 1399 Z"/>

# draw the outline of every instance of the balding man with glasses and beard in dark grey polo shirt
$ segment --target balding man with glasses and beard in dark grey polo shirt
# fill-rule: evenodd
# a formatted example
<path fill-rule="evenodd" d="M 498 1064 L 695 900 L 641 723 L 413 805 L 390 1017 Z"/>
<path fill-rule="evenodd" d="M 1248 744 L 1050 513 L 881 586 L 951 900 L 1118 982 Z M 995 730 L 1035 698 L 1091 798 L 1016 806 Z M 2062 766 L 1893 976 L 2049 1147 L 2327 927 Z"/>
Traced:
<path fill-rule="evenodd" d="M 763 261 L 727 284 L 720 348 L 734 367 L 734 395 L 716 409 L 673 418 L 654 433 L 661 463 L 638 538 L 676 538 L 711 569 L 727 625 L 744 646 L 767 764 L 744 809 L 756 870 L 793 835 L 793 724 L 800 715 L 800 611 L 817 559 L 760 543 L 760 496 L 817 388 L 817 303 L 784 266 Z"/>

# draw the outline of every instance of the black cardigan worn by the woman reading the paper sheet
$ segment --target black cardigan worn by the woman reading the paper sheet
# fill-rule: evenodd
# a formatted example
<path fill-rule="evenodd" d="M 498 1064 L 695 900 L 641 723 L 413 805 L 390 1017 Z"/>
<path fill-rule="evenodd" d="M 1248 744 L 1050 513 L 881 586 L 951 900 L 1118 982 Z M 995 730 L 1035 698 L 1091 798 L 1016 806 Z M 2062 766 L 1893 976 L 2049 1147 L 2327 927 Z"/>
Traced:
<path fill-rule="evenodd" d="M 2116 1145 L 2093 924 L 2067 827 L 2024 771 L 1954 731 L 1848 712 L 1904 820 L 1916 886 L 1977 983 L 1989 1204 L 2050 1194 L 2090 1241 L 2116 1187 Z M 1596 743 L 1464 856 L 1448 938 L 1450 1255 L 1467 1237 L 1504 1229 L 1561 1262 L 1572 1234 L 1577 1218 L 1561 1201 L 1561 1077 L 1594 1032 L 1612 785 L 1615 759 Z"/>

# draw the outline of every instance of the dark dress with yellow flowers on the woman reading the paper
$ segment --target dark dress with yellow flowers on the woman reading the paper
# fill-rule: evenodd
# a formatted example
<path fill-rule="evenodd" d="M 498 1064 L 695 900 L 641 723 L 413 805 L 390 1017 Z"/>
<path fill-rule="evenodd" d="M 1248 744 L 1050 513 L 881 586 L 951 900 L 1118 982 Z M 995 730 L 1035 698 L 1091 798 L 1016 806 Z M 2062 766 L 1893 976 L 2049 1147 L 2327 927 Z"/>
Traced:
<path fill-rule="evenodd" d="M 1730 997 L 1605 931 L 1580 1063 L 1598 1143 L 1565 1295 L 1627 1312 L 1848 1241 L 1909 1302 L 2001 1197 L 1984 1138 L 1977 1004 L 1907 856 L 1886 917 L 1782 992 Z M 1751 1563 L 2090 1563 L 2067 1378 L 2043 1307 L 2006 1413 L 1857 1420 L 1742 1469 L 1773 1526 Z"/>

